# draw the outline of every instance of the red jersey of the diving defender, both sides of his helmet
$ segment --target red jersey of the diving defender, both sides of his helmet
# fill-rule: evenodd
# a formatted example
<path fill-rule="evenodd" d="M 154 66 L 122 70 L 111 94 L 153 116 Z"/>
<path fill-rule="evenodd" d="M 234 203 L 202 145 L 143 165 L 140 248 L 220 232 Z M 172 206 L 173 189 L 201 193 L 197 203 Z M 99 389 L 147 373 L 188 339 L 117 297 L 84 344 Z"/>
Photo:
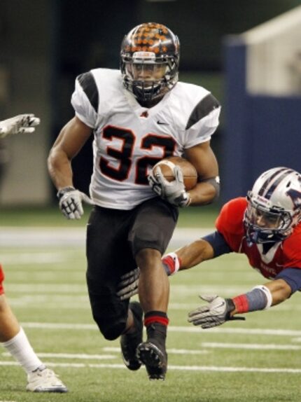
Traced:
<path fill-rule="evenodd" d="M 243 223 L 246 206 L 246 198 L 235 198 L 224 205 L 216 219 L 216 228 L 230 249 L 246 254 L 251 266 L 268 279 L 276 277 L 285 268 L 301 269 L 301 223 L 294 228 L 292 235 L 275 243 L 264 254 L 262 244 L 248 246 L 246 242 Z"/>

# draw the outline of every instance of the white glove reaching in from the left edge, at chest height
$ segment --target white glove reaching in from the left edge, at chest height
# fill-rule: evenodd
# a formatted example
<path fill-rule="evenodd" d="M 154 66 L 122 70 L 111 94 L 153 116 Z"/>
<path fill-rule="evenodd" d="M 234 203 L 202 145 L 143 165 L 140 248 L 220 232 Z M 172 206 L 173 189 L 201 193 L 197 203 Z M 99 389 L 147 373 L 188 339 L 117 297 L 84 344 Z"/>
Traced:
<path fill-rule="evenodd" d="M 0 138 L 7 135 L 34 132 L 35 126 L 40 124 L 40 119 L 34 114 L 20 114 L 7 120 L 0 121 Z"/>

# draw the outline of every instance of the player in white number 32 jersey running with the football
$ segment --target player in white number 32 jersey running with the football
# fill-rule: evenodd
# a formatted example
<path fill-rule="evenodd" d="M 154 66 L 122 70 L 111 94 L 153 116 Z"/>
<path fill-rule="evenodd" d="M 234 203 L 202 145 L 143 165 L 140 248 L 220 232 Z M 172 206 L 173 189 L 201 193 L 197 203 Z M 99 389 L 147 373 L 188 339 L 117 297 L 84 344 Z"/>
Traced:
<path fill-rule="evenodd" d="M 90 200 L 73 187 L 71 160 L 94 135 L 94 208 L 87 224 L 92 314 L 106 339 L 121 335 L 127 368 L 143 363 L 151 380 L 164 380 L 167 371 L 169 282 L 161 256 L 179 207 L 209 204 L 219 190 L 210 139 L 221 107 L 208 90 L 178 82 L 179 57 L 179 39 L 170 29 L 154 22 L 134 27 L 121 45 L 120 70 L 93 69 L 76 78 L 75 116 L 48 158 L 60 209 L 68 219 L 80 219 L 83 200 Z M 199 179 L 193 190 L 186 192 L 179 169 L 172 183 L 160 172 L 150 174 L 171 155 L 184 155 L 195 165 Z M 116 291 L 120 276 L 137 265 L 140 303 L 129 305 Z"/>

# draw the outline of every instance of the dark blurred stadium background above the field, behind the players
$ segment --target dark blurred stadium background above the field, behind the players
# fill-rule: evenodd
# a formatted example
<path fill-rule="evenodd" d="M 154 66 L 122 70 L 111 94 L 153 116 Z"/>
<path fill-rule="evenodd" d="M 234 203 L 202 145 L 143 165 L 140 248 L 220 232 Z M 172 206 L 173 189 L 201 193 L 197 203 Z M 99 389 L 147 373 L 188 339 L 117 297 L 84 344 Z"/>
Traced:
<path fill-rule="evenodd" d="M 0 143 L 1 207 L 55 202 L 45 160 L 71 116 L 74 79 L 118 68 L 123 35 L 155 20 L 181 40 L 180 79 L 223 104 L 212 146 L 225 202 L 274 165 L 300 170 L 300 0 L 1 0 L 0 116 L 41 117 L 33 136 Z M 275 19 L 276 18 L 276 19 Z M 258 27 L 259 25 L 259 27 Z M 73 162 L 87 192 L 91 144 Z"/>

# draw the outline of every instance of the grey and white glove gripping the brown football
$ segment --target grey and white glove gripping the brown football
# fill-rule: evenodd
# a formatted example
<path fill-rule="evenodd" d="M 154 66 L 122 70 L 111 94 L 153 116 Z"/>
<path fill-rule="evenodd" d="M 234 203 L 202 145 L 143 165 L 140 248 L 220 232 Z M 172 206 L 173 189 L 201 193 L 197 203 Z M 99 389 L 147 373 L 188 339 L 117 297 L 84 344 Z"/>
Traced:
<path fill-rule="evenodd" d="M 190 196 L 185 190 L 181 167 L 174 167 L 173 181 L 167 181 L 160 167 L 158 167 L 155 174 L 153 172 L 148 174 L 148 183 L 156 194 L 172 205 L 176 205 L 176 207 L 188 207 Z"/>

